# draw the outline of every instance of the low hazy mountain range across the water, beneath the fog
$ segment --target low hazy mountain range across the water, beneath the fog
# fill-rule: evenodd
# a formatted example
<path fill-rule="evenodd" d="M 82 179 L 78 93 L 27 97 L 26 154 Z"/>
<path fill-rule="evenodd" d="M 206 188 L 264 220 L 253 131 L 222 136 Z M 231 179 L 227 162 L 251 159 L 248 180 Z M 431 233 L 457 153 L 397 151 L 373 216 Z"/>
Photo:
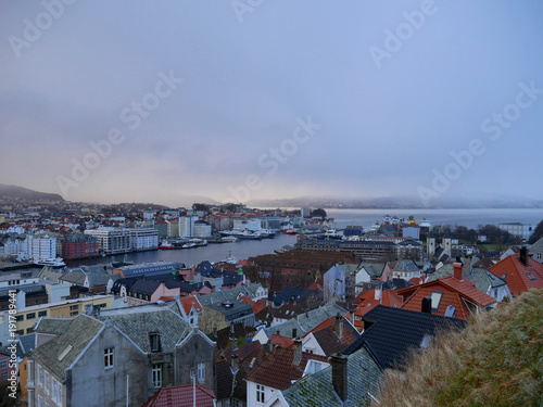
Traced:
<path fill-rule="evenodd" d="M 416 196 L 383 198 L 334 198 L 300 196 L 279 200 L 253 200 L 247 203 L 251 207 L 302 207 L 311 208 L 351 208 L 351 209 L 416 209 L 416 208 L 543 208 L 543 200 L 533 200 L 515 195 L 481 194 L 468 199 L 439 199 L 427 205 Z"/>

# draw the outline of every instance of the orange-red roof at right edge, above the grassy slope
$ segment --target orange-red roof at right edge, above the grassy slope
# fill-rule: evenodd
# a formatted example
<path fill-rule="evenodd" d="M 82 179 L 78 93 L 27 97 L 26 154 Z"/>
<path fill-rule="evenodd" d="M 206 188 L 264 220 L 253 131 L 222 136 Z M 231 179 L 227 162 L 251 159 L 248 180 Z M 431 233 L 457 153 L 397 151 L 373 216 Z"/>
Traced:
<path fill-rule="evenodd" d="M 489 271 L 500 278 L 505 275 L 505 281 L 513 296 L 530 289 L 543 289 L 543 264 L 531 257 L 528 262 L 528 266 L 525 266 L 520 262 L 520 256 L 514 254 L 490 267 Z"/>

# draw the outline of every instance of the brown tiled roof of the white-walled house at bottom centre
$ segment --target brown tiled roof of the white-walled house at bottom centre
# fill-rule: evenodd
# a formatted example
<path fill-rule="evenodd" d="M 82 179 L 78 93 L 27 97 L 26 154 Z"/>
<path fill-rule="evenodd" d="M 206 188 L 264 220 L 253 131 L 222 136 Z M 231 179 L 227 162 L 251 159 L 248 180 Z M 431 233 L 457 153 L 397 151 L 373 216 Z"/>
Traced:
<path fill-rule="evenodd" d="M 293 359 L 293 348 L 276 347 L 245 380 L 273 389 L 285 390 L 292 384 L 293 380 L 302 378 L 308 360 L 328 363 L 327 357 L 307 353 L 302 353 L 302 360 L 298 366 L 292 364 Z"/>

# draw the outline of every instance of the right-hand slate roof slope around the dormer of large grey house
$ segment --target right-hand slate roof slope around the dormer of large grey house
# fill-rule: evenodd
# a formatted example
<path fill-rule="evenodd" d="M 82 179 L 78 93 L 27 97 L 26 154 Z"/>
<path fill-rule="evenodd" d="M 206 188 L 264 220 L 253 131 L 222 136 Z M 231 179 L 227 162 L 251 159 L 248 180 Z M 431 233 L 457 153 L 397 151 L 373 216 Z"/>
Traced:
<path fill-rule="evenodd" d="M 112 320 L 114 326 L 123 331 L 146 353 L 151 352 L 149 334 L 159 332 L 162 352 L 174 352 L 175 345 L 190 331 L 190 326 L 174 309 L 177 304 L 172 302 L 161 306 L 148 304 L 129 308 L 106 309 L 100 313 L 100 320 Z"/>

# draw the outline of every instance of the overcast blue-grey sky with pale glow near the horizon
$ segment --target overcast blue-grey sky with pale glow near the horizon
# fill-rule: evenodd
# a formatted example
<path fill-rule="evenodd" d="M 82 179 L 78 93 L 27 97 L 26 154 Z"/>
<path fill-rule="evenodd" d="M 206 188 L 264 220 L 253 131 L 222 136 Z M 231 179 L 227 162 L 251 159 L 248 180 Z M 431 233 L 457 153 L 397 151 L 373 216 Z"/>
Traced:
<path fill-rule="evenodd" d="M 536 0 L 2 1 L 0 183 L 543 199 L 542 17 Z"/>

